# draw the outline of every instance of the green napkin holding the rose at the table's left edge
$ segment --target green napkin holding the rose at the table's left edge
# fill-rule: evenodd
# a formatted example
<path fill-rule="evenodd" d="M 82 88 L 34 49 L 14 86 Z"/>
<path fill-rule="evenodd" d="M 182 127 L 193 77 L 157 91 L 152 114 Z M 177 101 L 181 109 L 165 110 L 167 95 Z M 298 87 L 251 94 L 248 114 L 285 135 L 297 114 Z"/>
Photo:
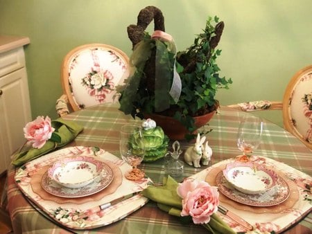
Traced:
<path fill-rule="evenodd" d="M 19 152 L 13 156 L 12 164 L 13 165 L 22 165 L 28 161 L 38 158 L 52 150 L 55 150 L 58 147 L 62 147 L 67 143 L 73 141 L 76 136 L 83 131 L 83 127 L 74 123 L 70 120 L 63 120 L 62 118 L 58 118 L 57 120 L 51 121 L 52 127 L 55 128 L 55 133 L 58 134 L 61 138 L 60 143 L 56 143 L 54 141 L 46 141 L 43 147 L 40 149 L 31 147 L 30 150 L 26 150 L 24 152 Z"/>

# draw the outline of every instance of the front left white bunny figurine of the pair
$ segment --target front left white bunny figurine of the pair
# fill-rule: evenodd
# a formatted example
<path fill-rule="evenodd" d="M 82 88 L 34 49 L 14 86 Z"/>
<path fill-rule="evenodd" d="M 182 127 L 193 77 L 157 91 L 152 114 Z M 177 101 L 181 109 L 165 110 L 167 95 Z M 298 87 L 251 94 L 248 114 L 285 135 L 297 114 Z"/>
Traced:
<path fill-rule="evenodd" d="M 200 134 L 197 134 L 196 143 L 194 146 L 190 146 L 184 153 L 184 161 L 193 165 L 194 168 L 200 168 L 200 159 L 202 157 L 202 143 L 206 140 L 206 136 L 200 138 Z"/>

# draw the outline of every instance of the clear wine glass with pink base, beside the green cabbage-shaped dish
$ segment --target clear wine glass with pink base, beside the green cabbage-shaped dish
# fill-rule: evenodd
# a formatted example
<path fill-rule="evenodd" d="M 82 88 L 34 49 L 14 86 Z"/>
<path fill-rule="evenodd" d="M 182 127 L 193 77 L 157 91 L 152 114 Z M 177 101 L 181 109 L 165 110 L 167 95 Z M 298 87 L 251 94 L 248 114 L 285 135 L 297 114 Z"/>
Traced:
<path fill-rule="evenodd" d="M 137 168 L 144 159 L 144 136 L 140 125 L 127 124 L 121 127 L 119 150 L 122 159 L 132 166 L 125 178 L 137 181 L 144 178 L 144 172 Z"/>

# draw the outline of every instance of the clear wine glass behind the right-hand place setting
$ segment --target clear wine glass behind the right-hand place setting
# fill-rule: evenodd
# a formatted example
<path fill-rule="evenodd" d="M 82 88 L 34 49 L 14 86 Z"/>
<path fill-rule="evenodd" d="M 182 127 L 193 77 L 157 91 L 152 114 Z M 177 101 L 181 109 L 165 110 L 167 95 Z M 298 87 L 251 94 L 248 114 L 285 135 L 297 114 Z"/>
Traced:
<path fill-rule="evenodd" d="M 261 118 L 252 115 L 243 116 L 237 135 L 237 146 L 243 155 L 250 157 L 252 152 L 257 149 L 262 132 L 263 120 Z"/>

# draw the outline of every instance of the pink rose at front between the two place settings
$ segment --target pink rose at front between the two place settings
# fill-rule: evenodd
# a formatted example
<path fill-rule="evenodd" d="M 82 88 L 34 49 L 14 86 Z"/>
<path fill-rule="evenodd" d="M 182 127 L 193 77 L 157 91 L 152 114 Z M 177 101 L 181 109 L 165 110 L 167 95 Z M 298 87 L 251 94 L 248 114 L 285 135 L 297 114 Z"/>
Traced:
<path fill-rule="evenodd" d="M 182 198 L 181 216 L 191 215 L 194 224 L 207 224 L 218 210 L 219 192 L 205 181 L 186 179 L 177 187 L 177 195 Z"/>

